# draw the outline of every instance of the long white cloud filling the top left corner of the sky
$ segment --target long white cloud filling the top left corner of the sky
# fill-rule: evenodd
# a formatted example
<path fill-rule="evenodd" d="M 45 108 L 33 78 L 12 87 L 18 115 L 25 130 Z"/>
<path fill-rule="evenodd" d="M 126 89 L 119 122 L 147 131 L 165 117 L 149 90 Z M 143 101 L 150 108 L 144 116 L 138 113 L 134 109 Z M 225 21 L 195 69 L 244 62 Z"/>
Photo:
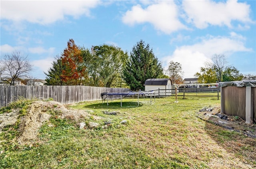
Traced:
<path fill-rule="evenodd" d="M 66 16 L 90 16 L 90 8 L 96 7 L 99 3 L 98 0 L 1 1 L 1 20 L 51 24 L 57 20 L 64 20 Z"/>

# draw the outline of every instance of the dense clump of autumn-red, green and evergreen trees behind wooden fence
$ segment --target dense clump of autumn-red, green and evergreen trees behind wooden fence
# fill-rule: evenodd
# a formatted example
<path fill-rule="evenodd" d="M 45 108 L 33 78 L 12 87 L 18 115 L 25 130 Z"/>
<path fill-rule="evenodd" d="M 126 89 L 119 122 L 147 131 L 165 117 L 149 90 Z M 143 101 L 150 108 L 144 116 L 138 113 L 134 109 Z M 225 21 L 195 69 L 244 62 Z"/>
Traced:
<path fill-rule="evenodd" d="M 163 78 L 162 64 L 149 44 L 140 40 L 130 56 L 113 45 L 77 46 L 70 39 L 61 56 L 56 56 L 46 75 L 47 85 L 130 87 L 144 90 L 148 78 Z M 168 77 L 168 76 L 167 76 Z"/>

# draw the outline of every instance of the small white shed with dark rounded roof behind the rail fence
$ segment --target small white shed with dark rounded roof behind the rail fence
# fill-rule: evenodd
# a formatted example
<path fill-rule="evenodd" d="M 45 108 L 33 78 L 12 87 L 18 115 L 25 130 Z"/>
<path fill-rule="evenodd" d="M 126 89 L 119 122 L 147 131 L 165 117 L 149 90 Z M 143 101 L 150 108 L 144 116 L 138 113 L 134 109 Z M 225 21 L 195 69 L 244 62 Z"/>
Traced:
<path fill-rule="evenodd" d="M 170 78 L 147 79 L 144 86 L 145 91 L 155 90 L 156 95 L 158 95 L 158 89 L 162 89 L 160 90 L 159 95 L 164 96 L 171 95 L 173 92 L 171 89 L 175 89 Z"/>

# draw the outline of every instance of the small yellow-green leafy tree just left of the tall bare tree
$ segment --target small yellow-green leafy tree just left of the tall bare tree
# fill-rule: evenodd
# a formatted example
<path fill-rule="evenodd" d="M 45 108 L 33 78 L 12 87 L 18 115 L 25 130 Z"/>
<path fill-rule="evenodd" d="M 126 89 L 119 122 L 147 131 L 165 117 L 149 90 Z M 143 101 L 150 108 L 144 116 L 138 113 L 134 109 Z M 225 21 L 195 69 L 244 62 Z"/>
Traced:
<path fill-rule="evenodd" d="M 205 67 L 200 68 L 200 73 L 197 72 L 194 76 L 198 77 L 200 84 L 212 84 L 217 81 L 216 72 L 208 63 L 205 63 Z"/>

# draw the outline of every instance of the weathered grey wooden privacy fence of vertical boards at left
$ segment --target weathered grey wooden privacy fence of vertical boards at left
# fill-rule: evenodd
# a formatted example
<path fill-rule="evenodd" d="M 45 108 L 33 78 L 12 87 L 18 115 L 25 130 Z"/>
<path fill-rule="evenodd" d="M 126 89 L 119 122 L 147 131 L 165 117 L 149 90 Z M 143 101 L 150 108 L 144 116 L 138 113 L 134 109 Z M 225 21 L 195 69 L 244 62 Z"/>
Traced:
<path fill-rule="evenodd" d="M 25 99 L 53 98 L 62 104 L 78 103 L 80 101 L 101 100 L 102 92 L 130 91 L 128 88 L 109 88 L 92 86 L 0 86 L 0 107 L 16 101 L 19 97 Z M 118 97 L 118 96 L 116 96 Z"/>

